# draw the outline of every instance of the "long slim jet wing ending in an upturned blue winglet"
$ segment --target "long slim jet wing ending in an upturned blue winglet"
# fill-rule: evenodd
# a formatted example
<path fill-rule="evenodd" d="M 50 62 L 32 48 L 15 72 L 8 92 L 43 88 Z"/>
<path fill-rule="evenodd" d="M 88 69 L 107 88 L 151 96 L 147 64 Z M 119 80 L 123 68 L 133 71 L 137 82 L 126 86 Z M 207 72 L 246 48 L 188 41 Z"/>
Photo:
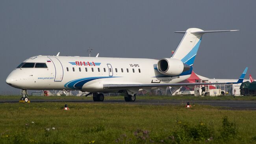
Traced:
<path fill-rule="evenodd" d="M 237 84 L 243 83 L 243 79 L 245 78 L 245 74 L 247 72 L 248 67 L 245 68 L 243 74 L 239 77 L 237 82 L 228 82 L 228 83 L 163 83 L 163 84 L 108 84 L 103 85 L 103 89 L 120 89 L 120 88 L 153 88 L 153 87 L 164 87 L 164 86 L 189 86 L 189 85 L 225 85 L 225 84 Z"/>

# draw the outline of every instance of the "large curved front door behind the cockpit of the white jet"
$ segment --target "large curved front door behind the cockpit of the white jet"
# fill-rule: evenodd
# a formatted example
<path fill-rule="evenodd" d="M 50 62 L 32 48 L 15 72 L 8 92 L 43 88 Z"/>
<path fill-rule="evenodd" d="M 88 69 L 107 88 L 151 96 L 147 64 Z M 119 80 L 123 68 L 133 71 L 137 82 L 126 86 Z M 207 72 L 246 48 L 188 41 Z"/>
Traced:
<path fill-rule="evenodd" d="M 55 68 L 55 79 L 54 79 L 54 81 L 62 81 L 62 79 L 63 79 L 63 67 L 62 67 L 61 62 L 56 57 L 48 56 L 48 58 L 51 59 L 53 65 L 54 65 L 54 68 Z"/>

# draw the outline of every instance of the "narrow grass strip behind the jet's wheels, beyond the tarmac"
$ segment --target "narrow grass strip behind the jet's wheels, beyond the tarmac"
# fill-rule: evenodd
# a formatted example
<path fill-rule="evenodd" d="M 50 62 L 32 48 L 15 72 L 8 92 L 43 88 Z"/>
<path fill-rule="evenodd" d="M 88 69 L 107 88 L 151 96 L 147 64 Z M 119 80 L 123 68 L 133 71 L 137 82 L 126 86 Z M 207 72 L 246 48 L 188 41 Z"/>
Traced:
<path fill-rule="evenodd" d="M 19 100 L 21 95 L 0 95 L 0 100 Z M 92 97 L 77 97 L 77 96 L 29 96 L 30 100 L 33 99 L 80 99 L 80 100 L 92 100 Z M 106 100 L 123 100 L 123 96 L 107 96 Z M 137 100 L 245 100 L 245 101 L 256 101 L 256 96 L 216 96 L 216 97 L 195 97 L 195 96 L 155 96 L 155 95 L 138 95 Z"/>

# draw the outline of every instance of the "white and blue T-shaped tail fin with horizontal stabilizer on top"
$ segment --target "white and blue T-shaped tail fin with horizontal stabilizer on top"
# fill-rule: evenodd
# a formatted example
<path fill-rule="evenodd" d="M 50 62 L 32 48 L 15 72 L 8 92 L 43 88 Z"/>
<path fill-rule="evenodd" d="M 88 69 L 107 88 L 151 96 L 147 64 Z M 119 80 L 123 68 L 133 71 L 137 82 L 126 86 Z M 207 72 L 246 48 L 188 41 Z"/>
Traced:
<path fill-rule="evenodd" d="M 224 30 L 224 31 L 203 31 L 198 28 L 189 28 L 187 31 L 176 31 L 176 33 L 184 33 L 182 40 L 174 51 L 172 58 L 180 59 L 183 63 L 193 66 L 197 50 L 202 40 L 202 35 L 210 32 L 229 32 L 239 30 Z"/>

